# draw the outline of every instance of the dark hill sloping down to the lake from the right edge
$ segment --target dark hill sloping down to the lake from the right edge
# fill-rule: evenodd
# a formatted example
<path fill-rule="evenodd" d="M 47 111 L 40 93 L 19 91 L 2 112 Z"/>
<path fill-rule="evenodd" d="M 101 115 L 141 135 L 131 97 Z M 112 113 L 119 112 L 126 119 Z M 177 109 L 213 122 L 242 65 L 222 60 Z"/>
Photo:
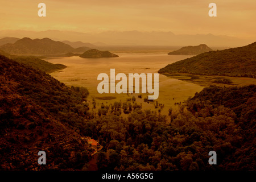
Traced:
<path fill-rule="evenodd" d="M 210 51 L 177 61 L 160 69 L 159 73 L 191 73 L 256 77 L 256 42 L 244 47 Z"/>

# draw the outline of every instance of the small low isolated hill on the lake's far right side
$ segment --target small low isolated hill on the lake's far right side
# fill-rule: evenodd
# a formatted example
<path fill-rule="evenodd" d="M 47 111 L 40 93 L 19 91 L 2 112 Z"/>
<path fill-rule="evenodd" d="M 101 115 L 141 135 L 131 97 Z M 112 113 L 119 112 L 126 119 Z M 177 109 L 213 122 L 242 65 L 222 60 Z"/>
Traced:
<path fill-rule="evenodd" d="M 181 47 L 177 51 L 169 52 L 168 55 L 199 55 L 209 51 L 212 51 L 212 49 L 205 44 L 200 44 L 199 46 Z"/>

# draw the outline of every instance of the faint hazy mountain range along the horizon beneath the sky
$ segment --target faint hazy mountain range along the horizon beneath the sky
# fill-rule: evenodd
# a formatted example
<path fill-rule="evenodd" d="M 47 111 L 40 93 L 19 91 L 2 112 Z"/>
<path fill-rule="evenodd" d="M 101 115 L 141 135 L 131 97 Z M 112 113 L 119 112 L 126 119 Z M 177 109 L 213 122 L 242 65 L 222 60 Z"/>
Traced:
<path fill-rule="evenodd" d="M 231 36 L 217 36 L 212 34 L 176 35 L 173 32 L 141 32 L 141 31 L 105 31 L 100 33 L 82 33 L 74 31 L 23 31 L 3 30 L 0 37 L 14 36 L 18 38 L 51 38 L 53 40 L 68 40 L 71 42 L 90 42 L 95 46 L 108 45 L 123 46 L 187 46 L 207 44 L 210 47 L 239 47 L 249 44 L 251 40 L 238 39 Z M 94 42 L 101 42 L 100 44 Z"/>

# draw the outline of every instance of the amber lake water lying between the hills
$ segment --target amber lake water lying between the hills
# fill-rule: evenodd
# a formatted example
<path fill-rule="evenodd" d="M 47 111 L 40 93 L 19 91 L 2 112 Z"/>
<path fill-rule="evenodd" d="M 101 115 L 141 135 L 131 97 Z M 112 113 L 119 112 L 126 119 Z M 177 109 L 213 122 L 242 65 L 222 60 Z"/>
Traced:
<path fill-rule="evenodd" d="M 73 57 L 57 57 L 47 59 L 50 63 L 64 64 L 67 68 L 51 73 L 60 82 L 64 82 L 67 86 L 84 86 L 90 94 L 88 97 L 89 104 L 92 104 L 92 99 L 96 98 L 97 108 L 101 103 L 109 104 L 115 101 L 126 101 L 127 98 L 135 96 L 136 102 L 142 104 L 142 109 L 155 109 L 154 104 L 143 101 L 148 94 L 142 94 L 142 98 L 138 98 L 139 94 L 99 94 L 97 85 L 101 82 L 97 80 L 100 73 L 106 73 L 110 78 L 110 69 L 115 69 L 115 75 L 118 73 L 157 73 L 160 68 L 167 64 L 174 63 L 179 60 L 192 57 L 191 55 L 167 55 L 163 53 L 118 53 L 119 57 L 88 59 L 78 56 Z M 117 84 L 118 81 L 115 81 Z M 189 96 L 194 96 L 196 92 L 200 92 L 202 86 L 170 78 L 164 75 L 159 75 L 159 97 L 156 101 L 159 104 L 164 104 L 161 111 L 163 114 L 168 114 L 170 107 L 176 108 L 175 102 L 183 102 Z M 115 97 L 112 100 L 102 100 L 102 97 Z M 100 98 L 100 99 L 99 99 Z M 159 109 L 159 108 L 158 108 Z M 157 110 L 158 110 L 157 109 Z"/>

